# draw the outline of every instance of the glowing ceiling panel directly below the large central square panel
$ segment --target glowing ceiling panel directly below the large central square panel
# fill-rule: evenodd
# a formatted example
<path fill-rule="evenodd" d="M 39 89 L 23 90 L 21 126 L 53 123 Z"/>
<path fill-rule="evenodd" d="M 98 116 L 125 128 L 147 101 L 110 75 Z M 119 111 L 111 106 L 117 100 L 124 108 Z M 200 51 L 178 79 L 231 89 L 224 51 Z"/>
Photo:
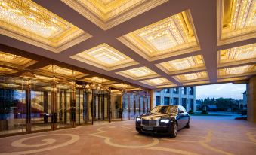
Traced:
<path fill-rule="evenodd" d="M 182 59 L 175 59 L 169 62 L 162 62 L 157 65 L 168 74 L 175 71 L 190 71 L 193 68 L 205 68 L 205 62 L 202 55 L 190 56 Z"/>

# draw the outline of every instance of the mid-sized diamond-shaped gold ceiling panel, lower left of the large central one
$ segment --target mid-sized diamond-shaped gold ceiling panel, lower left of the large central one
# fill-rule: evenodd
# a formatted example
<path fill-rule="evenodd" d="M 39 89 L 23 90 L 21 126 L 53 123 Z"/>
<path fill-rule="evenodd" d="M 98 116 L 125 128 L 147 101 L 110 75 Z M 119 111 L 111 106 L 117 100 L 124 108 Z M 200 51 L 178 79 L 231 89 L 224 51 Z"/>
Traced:
<path fill-rule="evenodd" d="M 71 58 L 105 70 L 113 70 L 115 68 L 122 68 L 122 66 L 137 64 L 133 59 L 125 56 L 125 54 L 110 47 L 108 44 L 100 44 L 97 47 L 71 56 Z"/>

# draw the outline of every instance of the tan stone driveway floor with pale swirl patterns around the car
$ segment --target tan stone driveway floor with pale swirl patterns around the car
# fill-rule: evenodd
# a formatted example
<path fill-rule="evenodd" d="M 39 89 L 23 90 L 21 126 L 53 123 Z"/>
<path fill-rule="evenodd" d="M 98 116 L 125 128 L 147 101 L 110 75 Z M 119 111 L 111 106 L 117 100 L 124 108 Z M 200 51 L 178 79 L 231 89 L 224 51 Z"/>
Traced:
<path fill-rule="evenodd" d="M 256 154 L 256 124 L 233 117 L 192 117 L 177 138 L 140 135 L 134 120 L 0 138 L 9 154 Z"/>

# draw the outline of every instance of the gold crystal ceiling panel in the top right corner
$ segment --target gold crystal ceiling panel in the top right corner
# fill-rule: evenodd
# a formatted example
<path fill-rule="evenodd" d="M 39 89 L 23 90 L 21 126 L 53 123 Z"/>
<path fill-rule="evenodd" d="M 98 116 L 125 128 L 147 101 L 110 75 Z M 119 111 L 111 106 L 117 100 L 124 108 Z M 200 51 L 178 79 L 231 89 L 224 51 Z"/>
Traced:
<path fill-rule="evenodd" d="M 254 0 L 219 0 L 218 45 L 255 38 L 256 22 Z"/>

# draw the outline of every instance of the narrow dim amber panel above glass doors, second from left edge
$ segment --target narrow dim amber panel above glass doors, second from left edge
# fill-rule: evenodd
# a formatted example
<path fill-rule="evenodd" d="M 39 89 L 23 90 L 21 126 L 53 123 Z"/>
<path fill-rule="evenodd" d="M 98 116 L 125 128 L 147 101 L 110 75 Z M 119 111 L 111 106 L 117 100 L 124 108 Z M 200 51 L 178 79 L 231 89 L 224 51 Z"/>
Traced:
<path fill-rule="evenodd" d="M 59 76 L 64 76 L 68 78 L 81 78 L 87 74 L 84 74 L 79 71 L 74 71 L 68 68 L 62 68 L 57 65 L 47 65 L 43 68 L 40 68 L 39 71 L 46 71 L 48 74 L 51 75 L 59 75 Z"/>

